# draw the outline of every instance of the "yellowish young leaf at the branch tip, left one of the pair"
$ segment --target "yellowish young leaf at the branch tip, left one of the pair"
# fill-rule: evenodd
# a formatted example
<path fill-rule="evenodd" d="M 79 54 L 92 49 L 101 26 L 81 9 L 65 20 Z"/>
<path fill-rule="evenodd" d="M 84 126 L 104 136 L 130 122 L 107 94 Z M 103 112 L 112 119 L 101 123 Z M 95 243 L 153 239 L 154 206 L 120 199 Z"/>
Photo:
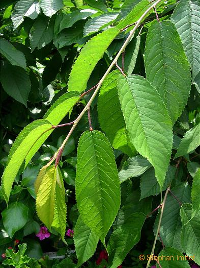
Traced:
<path fill-rule="evenodd" d="M 47 167 L 36 197 L 37 214 L 48 229 L 51 227 L 55 213 L 55 185 L 57 176 L 54 165 Z"/>

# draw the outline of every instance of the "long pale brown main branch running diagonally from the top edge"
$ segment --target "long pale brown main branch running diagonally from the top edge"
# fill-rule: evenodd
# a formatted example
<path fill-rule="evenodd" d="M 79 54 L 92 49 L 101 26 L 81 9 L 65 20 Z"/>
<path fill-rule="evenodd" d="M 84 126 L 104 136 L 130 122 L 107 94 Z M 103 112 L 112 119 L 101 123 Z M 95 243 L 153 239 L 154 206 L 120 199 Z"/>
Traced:
<path fill-rule="evenodd" d="M 63 143 L 61 144 L 61 147 L 59 148 L 59 150 L 57 152 L 55 152 L 55 155 L 53 156 L 52 160 L 46 165 L 50 165 L 52 163 L 52 161 L 56 158 L 56 156 L 58 155 L 59 151 L 62 151 L 65 147 L 66 142 L 68 141 L 69 137 L 71 136 L 72 132 L 74 131 L 76 125 L 78 124 L 78 122 L 80 121 L 80 119 L 82 118 L 82 116 L 84 115 L 84 113 L 88 110 L 88 108 L 91 106 L 92 102 L 94 101 L 101 85 L 103 84 L 103 81 L 105 80 L 106 76 L 109 74 L 110 70 L 112 69 L 112 67 L 114 65 L 116 65 L 120 55 L 123 53 L 123 51 L 125 50 L 126 46 L 128 45 L 128 43 L 130 42 L 133 34 L 135 33 L 136 29 L 139 27 L 141 21 L 146 17 L 146 15 L 156 7 L 156 5 L 158 5 L 160 2 L 162 2 L 163 0 L 157 0 L 154 4 L 152 4 L 142 15 L 141 17 L 135 22 L 135 26 L 134 28 L 130 31 L 130 34 L 128 36 L 128 38 L 126 39 L 126 41 L 124 42 L 124 44 L 122 45 L 120 51 L 118 52 L 118 54 L 116 55 L 115 59 L 111 62 L 110 66 L 108 67 L 108 69 L 106 70 L 105 74 L 103 75 L 103 77 L 101 78 L 101 80 L 99 81 L 94 93 L 92 94 L 89 102 L 87 103 L 87 105 L 84 107 L 84 109 L 82 110 L 82 112 L 78 115 L 78 117 L 74 120 L 74 124 L 72 126 L 72 128 L 70 129 L 67 137 L 65 138 L 65 140 L 63 141 Z M 91 89 L 92 90 L 92 89 Z M 84 93 L 83 93 L 84 94 Z M 82 95 L 83 95 L 82 94 Z"/>

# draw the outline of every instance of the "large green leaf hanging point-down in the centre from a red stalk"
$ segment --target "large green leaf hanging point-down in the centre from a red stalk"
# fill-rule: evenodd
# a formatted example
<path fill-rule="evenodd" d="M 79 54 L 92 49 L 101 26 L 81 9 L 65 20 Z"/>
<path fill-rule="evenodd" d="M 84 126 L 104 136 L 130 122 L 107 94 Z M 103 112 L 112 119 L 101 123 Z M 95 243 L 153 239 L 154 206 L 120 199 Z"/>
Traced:
<path fill-rule="evenodd" d="M 79 139 L 76 201 L 83 222 L 103 241 L 120 207 L 120 181 L 111 145 L 98 130 Z"/>

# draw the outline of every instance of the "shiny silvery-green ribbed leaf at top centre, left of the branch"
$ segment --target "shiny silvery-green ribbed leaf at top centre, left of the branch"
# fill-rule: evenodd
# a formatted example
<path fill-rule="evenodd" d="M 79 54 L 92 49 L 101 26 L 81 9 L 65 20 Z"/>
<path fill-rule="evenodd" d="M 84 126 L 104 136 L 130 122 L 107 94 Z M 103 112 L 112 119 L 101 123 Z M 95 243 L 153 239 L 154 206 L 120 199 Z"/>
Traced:
<path fill-rule="evenodd" d="M 89 19 L 84 26 L 83 36 L 96 33 L 110 25 L 118 16 L 118 12 L 106 12 L 98 17 Z"/>

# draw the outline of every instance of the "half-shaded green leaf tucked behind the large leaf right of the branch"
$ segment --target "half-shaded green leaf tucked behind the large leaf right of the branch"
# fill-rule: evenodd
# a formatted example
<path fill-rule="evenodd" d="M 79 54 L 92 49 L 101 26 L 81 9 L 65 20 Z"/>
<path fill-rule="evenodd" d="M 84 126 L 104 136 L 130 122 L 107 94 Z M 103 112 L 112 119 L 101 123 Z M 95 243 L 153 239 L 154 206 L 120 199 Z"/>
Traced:
<path fill-rule="evenodd" d="M 118 70 L 110 72 L 101 86 L 98 97 L 99 124 L 113 148 L 133 156 L 135 149 L 128 137 L 118 97 L 119 74 Z"/>

